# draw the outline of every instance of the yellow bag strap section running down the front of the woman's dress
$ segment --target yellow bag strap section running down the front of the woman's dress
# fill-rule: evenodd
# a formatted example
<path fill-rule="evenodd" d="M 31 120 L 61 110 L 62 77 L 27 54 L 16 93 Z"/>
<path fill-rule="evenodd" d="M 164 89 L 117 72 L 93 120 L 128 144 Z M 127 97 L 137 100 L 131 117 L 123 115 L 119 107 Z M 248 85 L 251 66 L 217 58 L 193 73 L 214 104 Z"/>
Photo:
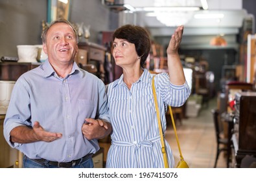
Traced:
<path fill-rule="evenodd" d="M 169 168 L 169 164 L 168 164 L 168 160 L 167 160 L 167 153 L 166 153 L 166 149 L 165 149 L 165 142 L 163 140 L 163 130 L 162 130 L 162 126 L 161 126 L 161 119 L 160 119 L 159 109 L 158 109 L 158 105 L 157 105 L 157 97 L 156 97 L 156 88 L 155 88 L 154 78 L 155 78 L 155 76 L 152 79 L 152 91 L 153 91 L 153 95 L 154 95 L 156 114 L 157 114 L 157 120 L 158 120 L 158 125 L 159 125 L 159 133 L 160 133 L 160 138 L 161 138 L 161 145 L 162 145 L 161 151 L 163 153 L 163 162 L 165 164 L 165 168 Z"/>

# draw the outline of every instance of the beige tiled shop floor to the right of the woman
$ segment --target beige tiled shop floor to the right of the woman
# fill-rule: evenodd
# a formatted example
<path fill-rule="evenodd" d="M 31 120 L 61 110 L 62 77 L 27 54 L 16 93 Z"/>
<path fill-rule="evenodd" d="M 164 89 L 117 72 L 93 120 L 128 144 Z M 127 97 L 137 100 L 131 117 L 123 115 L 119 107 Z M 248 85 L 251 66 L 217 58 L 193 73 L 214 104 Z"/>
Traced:
<path fill-rule="evenodd" d="M 216 107 L 216 99 L 210 100 L 209 107 L 203 107 L 198 117 L 176 122 L 178 138 L 184 160 L 191 168 L 213 168 L 216 156 L 216 138 L 211 109 Z M 176 165 L 180 159 L 178 145 L 171 123 L 167 125 L 165 138 L 172 147 Z M 226 157 L 220 153 L 216 167 L 226 167 Z"/>

